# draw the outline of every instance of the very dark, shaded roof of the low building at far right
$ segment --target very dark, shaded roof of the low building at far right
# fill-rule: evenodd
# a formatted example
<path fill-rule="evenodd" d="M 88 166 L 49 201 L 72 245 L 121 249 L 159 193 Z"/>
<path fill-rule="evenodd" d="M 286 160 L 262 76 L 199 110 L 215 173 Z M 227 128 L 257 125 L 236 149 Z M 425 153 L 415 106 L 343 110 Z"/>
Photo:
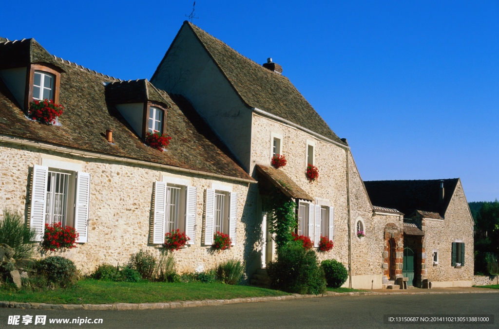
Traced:
<path fill-rule="evenodd" d="M 444 202 L 439 201 L 440 181 L 444 181 Z M 419 209 L 445 215 L 459 178 L 430 180 L 364 181 L 373 205 L 394 208 L 405 214 Z"/>

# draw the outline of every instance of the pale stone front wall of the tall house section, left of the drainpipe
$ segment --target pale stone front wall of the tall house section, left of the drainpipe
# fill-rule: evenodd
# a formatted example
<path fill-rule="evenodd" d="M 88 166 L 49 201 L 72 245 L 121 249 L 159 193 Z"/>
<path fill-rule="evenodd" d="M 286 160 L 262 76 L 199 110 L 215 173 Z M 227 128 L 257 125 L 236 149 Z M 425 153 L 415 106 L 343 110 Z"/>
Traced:
<path fill-rule="evenodd" d="M 334 206 L 334 247 L 329 252 L 318 252 L 320 260 L 336 259 L 348 268 L 348 206 L 346 197 L 346 152 L 344 149 L 314 138 L 301 130 L 253 113 L 251 130 L 251 167 L 270 166 L 270 134 L 282 135 L 281 153 L 287 165 L 283 170 L 310 196 Z M 306 141 L 315 143 L 315 165 L 319 177 L 313 183 L 305 175 Z M 317 249 L 317 248 L 316 248 Z"/>

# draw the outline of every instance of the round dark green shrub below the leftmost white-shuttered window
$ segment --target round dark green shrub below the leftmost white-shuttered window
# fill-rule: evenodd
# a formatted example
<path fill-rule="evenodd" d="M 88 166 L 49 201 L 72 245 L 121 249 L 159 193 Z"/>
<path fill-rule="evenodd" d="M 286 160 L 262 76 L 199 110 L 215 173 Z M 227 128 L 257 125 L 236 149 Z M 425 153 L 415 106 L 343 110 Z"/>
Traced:
<path fill-rule="evenodd" d="M 36 268 L 48 281 L 62 288 L 71 287 L 78 281 L 76 266 L 73 261 L 64 257 L 43 258 L 38 261 Z"/>

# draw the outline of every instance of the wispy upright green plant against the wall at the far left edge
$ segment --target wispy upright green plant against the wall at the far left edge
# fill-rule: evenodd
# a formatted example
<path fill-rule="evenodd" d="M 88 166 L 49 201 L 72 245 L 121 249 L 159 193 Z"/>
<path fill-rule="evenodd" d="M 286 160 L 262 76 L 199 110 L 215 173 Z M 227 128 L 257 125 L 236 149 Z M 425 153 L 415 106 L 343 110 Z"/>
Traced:
<path fill-rule="evenodd" d="M 0 243 L 7 244 L 15 252 L 14 258 L 33 256 L 35 244 L 30 243 L 36 237 L 36 231 L 24 225 L 24 215 L 19 211 L 4 208 L 0 220 Z"/>

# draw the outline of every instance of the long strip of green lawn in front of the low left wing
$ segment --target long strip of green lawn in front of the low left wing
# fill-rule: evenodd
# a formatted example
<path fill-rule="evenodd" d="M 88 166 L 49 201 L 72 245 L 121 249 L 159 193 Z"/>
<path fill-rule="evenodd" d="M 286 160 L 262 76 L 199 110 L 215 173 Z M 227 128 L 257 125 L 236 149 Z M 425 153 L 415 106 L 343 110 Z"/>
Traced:
<path fill-rule="evenodd" d="M 0 301 L 47 304 L 166 303 L 289 295 L 277 290 L 220 283 L 112 282 L 85 279 L 76 288 L 42 292 L 0 290 Z"/>

